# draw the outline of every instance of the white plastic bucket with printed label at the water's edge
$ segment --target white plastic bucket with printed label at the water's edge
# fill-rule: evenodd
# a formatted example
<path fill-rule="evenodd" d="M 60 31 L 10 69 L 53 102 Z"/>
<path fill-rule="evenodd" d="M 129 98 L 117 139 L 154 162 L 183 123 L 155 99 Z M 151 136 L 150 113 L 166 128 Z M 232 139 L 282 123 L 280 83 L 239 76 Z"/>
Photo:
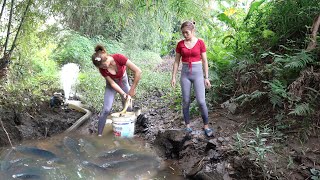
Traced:
<path fill-rule="evenodd" d="M 132 138 L 134 135 L 134 124 L 136 115 L 134 112 L 126 112 L 111 114 L 112 129 L 115 137 Z"/>

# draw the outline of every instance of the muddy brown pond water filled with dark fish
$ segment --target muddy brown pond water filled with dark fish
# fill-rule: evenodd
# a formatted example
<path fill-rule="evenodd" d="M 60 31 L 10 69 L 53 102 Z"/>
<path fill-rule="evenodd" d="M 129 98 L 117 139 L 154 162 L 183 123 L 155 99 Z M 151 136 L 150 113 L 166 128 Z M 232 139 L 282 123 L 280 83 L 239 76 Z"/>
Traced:
<path fill-rule="evenodd" d="M 76 133 L 26 141 L 1 152 L 0 179 L 184 179 L 140 139 Z"/>

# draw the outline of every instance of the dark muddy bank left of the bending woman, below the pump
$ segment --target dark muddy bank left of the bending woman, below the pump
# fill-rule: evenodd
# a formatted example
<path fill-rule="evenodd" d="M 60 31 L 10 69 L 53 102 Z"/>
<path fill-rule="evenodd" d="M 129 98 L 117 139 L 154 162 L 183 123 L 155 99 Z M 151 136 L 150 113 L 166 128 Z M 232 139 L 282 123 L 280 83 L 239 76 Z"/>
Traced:
<path fill-rule="evenodd" d="M 84 115 L 68 108 L 50 108 L 49 100 L 36 111 L 0 109 L 0 114 L 3 122 L 3 127 L 0 128 L 0 147 L 10 146 L 8 136 L 12 144 L 19 144 L 24 140 L 46 138 L 62 133 Z"/>

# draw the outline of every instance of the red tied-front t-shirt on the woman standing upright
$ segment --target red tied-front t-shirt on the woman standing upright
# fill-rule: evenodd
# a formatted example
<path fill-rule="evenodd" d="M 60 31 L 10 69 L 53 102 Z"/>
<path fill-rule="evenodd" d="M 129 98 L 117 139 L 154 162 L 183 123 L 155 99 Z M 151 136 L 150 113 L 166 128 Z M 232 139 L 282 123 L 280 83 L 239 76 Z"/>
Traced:
<path fill-rule="evenodd" d="M 189 49 L 185 46 L 184 40 L 181 40 L 177 44 L 176 52 L 181 54 L 182 62 L 188 62 L 191 65 L 191 62 L 201 61 L 201 53 L 206 52 L 206 45 L 198 39 L 193 48 Z"/>

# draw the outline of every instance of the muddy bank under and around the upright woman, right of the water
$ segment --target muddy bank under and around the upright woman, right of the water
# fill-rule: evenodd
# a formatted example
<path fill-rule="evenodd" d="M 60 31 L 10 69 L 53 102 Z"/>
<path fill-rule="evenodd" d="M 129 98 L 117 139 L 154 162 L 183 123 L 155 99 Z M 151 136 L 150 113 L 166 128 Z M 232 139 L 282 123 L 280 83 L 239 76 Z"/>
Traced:
<path fill-rule="evenodd" d="M 186 179 L 302 180 L 320 176 L 317 127 L 304 139 L 299 129 L 281 132 L 251 114 L 232 114 L 212 107 L 209 126 L 215 129 L 215 136 L 209 138 L 202 130 L 201 117 L 192 119 L 194 132 L 187 134 L 181 114 L 162 103 L 161 97 L 149 97 L 158 105 L 142 111 L 136 135 L 149 141 L 160 157 L 179 167 Z"/>

